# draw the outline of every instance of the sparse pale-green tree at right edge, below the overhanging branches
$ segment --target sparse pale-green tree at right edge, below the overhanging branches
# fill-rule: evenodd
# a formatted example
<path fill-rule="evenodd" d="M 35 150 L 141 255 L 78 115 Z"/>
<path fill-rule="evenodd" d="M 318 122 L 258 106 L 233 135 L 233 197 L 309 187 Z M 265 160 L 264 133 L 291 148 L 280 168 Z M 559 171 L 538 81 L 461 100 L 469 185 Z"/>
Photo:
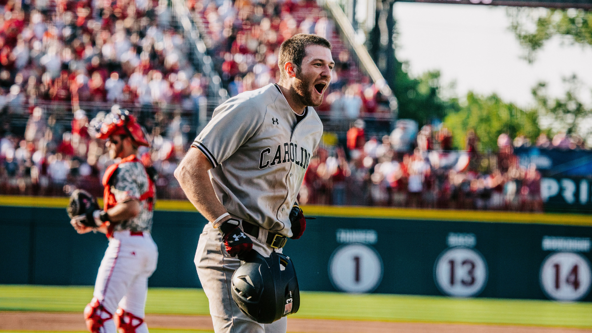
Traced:
<path fill-rule="evenodd" d="M 592 108 L 586 107 L 578 97 L 583 84 L 576 75 L 564 78 L 564 83 L 567 85 L 567 91 L 561 98 L 548 97 L 545 82 L 539 82 L 532 88 L 541 126 L 552 133 L 565 132 L 568 135 L 581 136 L 590 145 L 592 129 L 587 126 L 586 120 L 591 119 Z"/>

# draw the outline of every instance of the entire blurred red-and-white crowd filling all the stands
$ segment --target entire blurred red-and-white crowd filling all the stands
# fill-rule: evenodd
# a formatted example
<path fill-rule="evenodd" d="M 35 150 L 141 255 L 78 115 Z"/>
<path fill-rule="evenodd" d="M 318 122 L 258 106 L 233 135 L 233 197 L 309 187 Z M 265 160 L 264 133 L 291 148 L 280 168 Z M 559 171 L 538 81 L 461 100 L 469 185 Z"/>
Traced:
<path fill-rule="evenodd" d="M 101 195 L 111 161 L 86 125 L 118 103 L 133 109 L 152 136 L 153 147 L 140 155 L 159 175 L 158 196 L 184 198 L 172 174 L 195 124 L 181 115 L 197 110 L 208 82 L 188 62 L 168 7 L 152 0 L 2 3 L 0 194 L 65 196 L 85 188 Z M 498 152 L 481 155 L 472 132 L 465 151 L 452 150 L 445 127 L 424 126 L 415 136 L 412 122 L 398 121 L 388 136 L 365 133 L 356 119 L 390 117 L 388 103 L 316 2 L 187 3 L 219 56 L 214 62 L 220 59 L 230 95 L 275 82 L 279 44 L 293 34 L 332 41 L 337 65 L 318 110 L 352 126 L 346 145 L 334 139 L 339 133 L 324 136 L 305 175 L 303 203 L 542 210 L 540 173 L 513 154 L 526 144 L 522 137 L 501 135 Z M 560 133 L 541 136 L 536 146 L 577 149 L 581 142 Z"/>

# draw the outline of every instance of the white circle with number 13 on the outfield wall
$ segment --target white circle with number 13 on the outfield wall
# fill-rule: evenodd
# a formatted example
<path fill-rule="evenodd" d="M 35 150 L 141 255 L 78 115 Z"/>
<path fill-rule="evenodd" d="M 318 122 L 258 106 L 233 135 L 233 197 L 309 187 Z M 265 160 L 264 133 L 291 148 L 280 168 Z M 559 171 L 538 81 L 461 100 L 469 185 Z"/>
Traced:
<path fill-rule="evenodd" d="M 436 286 L 444 294 L 472 297 L 480 294 L 487 284 L 487 262 L 475 249 L 446 249 L 434 265 Z"/>

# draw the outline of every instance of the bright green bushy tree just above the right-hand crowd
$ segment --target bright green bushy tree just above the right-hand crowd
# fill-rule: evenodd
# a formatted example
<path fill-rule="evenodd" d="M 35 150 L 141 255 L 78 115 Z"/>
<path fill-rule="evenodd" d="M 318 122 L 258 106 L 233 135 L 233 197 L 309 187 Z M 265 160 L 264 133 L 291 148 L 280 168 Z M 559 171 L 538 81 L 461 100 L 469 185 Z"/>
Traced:
<path fill-rule="evenodd" d="M 466 103 L 459 111 L 448 114 L 444 124 L 452 131 L 453 143 L 465 149 L 466 133 L 474 130 L 481 151 L 497 151 L 497 137 L 524 135 L 531 142 L 540 134 L 536 111 L 525 111 L 512 103 L 505 103 L 496 94 L 484 97 L 468 92 Z"/>

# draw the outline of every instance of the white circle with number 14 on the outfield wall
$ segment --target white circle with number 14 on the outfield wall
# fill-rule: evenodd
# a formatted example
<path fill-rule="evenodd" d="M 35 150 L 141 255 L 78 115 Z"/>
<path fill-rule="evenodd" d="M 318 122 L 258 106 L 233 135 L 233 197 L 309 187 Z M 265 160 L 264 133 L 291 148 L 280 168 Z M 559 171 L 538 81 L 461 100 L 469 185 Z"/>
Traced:
<path fill-rule="evenodd" d="M 557 252 L 540 265 L 540 286 L 550 299 L 580 300 L 590 292 L 590 262 L 581 254 Z"/>

